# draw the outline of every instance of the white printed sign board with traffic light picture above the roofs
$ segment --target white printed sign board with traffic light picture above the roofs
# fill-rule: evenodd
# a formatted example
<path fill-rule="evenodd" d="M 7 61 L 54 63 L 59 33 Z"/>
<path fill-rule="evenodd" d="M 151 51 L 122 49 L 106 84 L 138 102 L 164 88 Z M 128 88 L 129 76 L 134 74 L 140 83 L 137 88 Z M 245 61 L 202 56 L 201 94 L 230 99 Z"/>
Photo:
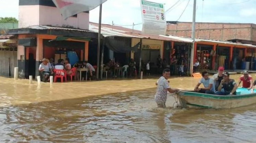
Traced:
<path fill-rule="evenodd" d="M 166 18 L 163 4 L 141 0 L 141 12 L 142 33 L 166 35 Z"/>

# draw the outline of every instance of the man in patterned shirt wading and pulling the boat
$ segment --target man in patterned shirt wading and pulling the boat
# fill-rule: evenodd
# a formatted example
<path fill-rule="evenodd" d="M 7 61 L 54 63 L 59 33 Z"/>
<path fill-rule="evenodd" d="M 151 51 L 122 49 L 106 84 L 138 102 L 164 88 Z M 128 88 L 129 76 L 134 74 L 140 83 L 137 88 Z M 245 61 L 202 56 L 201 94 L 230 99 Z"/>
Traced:
<path fill-rule="evenodd" d="M 170 78 L 170 69 L 163 70 L 163 76 L 160 77 L 156 83 L 157 92 L 155 95 L 155 101 L 157 103 L 158 108 L 166 108 L 166 99 L 167 99 L 167 91 L 170 93 L 174 93 L 179 91 L 179 89 L 170 88 L 168 79 Z"/>

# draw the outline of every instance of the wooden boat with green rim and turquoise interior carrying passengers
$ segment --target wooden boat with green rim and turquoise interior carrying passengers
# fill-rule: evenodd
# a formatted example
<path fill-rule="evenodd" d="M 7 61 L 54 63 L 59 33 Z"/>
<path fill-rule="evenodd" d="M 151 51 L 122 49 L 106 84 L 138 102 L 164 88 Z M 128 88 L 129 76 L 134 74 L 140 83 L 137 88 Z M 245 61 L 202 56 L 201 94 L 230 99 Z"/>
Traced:
<path fill-rule="evenodd" d="M 211 95 L 192 91 L 181 91 L 176 94 L 178 106 L 183 108 L 236 108 L 256 103 L 254 93 L 247 89 L 238 88 L 237 95 Z"/>

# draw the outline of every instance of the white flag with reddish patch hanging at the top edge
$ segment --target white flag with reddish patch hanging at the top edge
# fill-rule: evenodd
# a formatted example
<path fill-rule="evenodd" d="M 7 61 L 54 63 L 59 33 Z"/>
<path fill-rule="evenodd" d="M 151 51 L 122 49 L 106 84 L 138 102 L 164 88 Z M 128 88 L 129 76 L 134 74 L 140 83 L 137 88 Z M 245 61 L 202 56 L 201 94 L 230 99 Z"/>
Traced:
<path fill-rule="evenodd" d="M 86 12 L 95 9 L 100 4 L 107 0 L 52 0 L 60 9 L 64 19 L 76 15 L 81 12 Z"/>

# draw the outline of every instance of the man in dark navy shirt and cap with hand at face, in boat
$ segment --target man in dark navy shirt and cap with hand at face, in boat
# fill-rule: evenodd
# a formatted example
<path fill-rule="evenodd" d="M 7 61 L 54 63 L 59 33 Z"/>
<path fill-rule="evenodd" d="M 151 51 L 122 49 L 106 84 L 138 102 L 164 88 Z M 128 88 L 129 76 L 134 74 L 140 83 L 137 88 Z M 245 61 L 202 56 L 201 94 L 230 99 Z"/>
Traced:
<path fill-rule="evenodd" d="M 237 84 L 234 79 L 229 78 L 229 73 L 223 73 L 216 95 L 236 95 Z M 224 90 L 222 90 L 224 89 Z"/>

